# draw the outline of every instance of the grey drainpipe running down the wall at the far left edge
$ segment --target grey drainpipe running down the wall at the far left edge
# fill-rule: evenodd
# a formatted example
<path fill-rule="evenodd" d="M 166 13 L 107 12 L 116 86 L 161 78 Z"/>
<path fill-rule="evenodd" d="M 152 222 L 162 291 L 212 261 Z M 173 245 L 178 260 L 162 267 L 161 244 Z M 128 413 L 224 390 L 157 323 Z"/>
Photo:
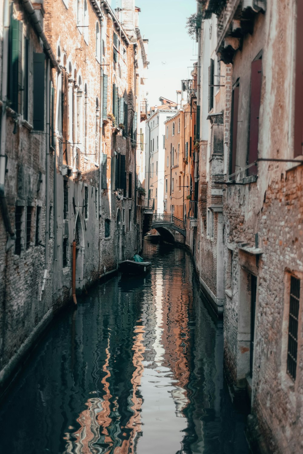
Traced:
<path fill-rule="evenodd" d="M 5 252 L 15 244 L 16 235 L 10 224 L 10 215 L 7 207 L 5 197 L 5 142 L 6 142 L 6 95 L 7 95 L 7 67 L 8 67 L 8 45 L 9 45 L 9 30 L 10 30 L 10 14 L 9 14 L 9 2 L 5 0 L 4 5 L 4 33 L 3 33 L 3 59 L 2 59 L 2 99 L 4 105 L 2 105 L 1 112 L 1 138 L 0 138 L 0 200 L 2 207 L 3 220 L 5 224 L 6 232 L 10 235 L 7 240 Z"/>

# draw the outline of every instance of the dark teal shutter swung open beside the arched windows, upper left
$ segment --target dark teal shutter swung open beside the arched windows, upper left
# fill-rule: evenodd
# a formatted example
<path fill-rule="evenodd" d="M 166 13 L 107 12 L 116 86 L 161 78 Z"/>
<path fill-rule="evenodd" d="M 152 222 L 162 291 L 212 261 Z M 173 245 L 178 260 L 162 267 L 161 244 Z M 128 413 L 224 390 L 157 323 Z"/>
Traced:
<path fill-rule="evenodd" d="M 35 131 L 44 131 L 44 54 L 34 52 L 34 109 L 33 127 Z"/>

